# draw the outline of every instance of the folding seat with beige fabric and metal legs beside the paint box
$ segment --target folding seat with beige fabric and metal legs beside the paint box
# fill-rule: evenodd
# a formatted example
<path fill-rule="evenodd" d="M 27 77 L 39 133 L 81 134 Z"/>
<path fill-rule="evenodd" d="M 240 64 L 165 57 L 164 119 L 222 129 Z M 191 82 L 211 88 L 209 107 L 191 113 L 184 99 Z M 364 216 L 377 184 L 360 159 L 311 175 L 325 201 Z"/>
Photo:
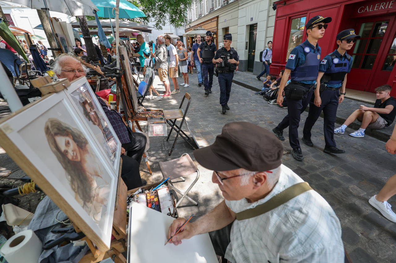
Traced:
<path fill-rule="evenodd" d="M 197 202 L 195 202 L 194 200 L 192 200 L 190 197 L 187 196 L 188 192 L 190 192 L 191 188 L 195 185 L 195 183 L 199 179 L 199 170 L 194 164 L 194 162 L 191 160 L 190 155 L 184 153 L 180 158 L 173 159 L 167 162 L 158 162 L 158 164 L 160 165 L 160 169 L 164 179 L 170 177 L 168 180 L 169 187 L 175 190 L 176 192 L 178 192 L 179 194 L 181 194 L 181 198 L 176 203 L 175 207 L 179 206 L 183 198 L 187 198 L 188 201 L 198 206 Z M 179 189 L 173 186 L 171 180 L 181 178 L 185 182 L 186 179 L 184 179 L 183 176 L 186 176 L 194 172 L 197 173 L 197 177 L 195 178 L 194 182 L 192 182 L 192 184 L 188 187 L 187 191 L 182 193 Z"/>

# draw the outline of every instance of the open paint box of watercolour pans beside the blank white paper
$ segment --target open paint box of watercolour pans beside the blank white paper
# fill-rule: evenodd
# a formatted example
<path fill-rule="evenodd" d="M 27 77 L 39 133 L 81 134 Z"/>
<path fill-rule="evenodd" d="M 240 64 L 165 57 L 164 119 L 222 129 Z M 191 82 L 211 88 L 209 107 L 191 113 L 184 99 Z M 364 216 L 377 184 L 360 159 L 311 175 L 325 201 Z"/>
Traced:
<path fill-rule="evenodd" d="M 150 191 L 150 189 L 153 189 L 153 188 L 157 187 L 163 181 L 164 180 L 156 182 L 156 183 L 153 183 L 151 185 L 145 185 L 143 187 L 139 187 L 140 189 L 142 189 L 143 194 L 146 194 L 146 201 L 147 201 L 147 193 L 145 193 L 145 191 Z M 129 200 L 133 200 L 134 199 L 133 198 L 133 194 L 135 192 L 137 192 L 139 190 L 139 188 L 135 188 L 135 189 L 129 190 L 128 193 L 127 193 L 127 200 L 128 199 Z M 160 191 L 159 193 L 158 193 L 158 190 Z M 158 205 L 159 205 L 160 209 L 156 210 L 155 207 L 154 207 L 153 210 L 156 210 L 158 212 L 162 212 L 165 215 L 169 213 L 169 209 L 168 208 L 170 208 L 171 212 L 173 212 L 173 207 L 176 206 L 176 201 L 175 201 L 175 197 L 173 196 L 173 191 L 170 188 L 168 188 L 168 186 L 166 186 L 164 184 L 164 185 L 161 185 L 158 189 L 156 189 L 155 192 L 156 192 L 156 196 L 154 196 L 154 194 L 152 194 L 153 195 L 153 200 L 155 198 L 159 197 L 158 198 Z M 166 197 L 166 196 L 168 196 L 168 192 L 169 192 L 171 200 L 168 200 L 168 198 Z M 151 199 L 151 192 L 150 192 L 150 199 Z M 144 200 L 143 196 L 140 196 L 140 201 L 143 202 L 143 200 Z M 155 202 L 156 202 L 156 200 L 154 200 L 154 205 L 155 205 Z M 146 203 L 146 204 L 143 203 L 142 205 L 148 206 L 148 203 Z M 151 208 L 152 208 L 152 203 L 151 203 Z M 165 211 L 162 211 L 162 210 L 165 210 Z M 177 213 L 177 209 L 176 208 L 175 208 L 175 215 L 177 217 L 179 217 L 179 213 Z"/>

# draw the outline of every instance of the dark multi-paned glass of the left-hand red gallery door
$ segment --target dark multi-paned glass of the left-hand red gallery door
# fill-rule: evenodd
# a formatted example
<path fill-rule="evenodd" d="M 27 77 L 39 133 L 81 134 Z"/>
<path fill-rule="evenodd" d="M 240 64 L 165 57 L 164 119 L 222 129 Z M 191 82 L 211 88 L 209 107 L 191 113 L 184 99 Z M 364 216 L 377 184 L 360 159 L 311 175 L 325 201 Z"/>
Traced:
<path fill-rule="evenodd" d="M 362 38 L 356 41 L 356 45 L 352 53 L 352 68 L 373 68 L 375 58 L 377 57 L 379 48 L 381 47 L 381 43 L 386 32 L 386 28 L 388 27 L 388 22 L 389 21 L 362 23 L 359 31 L 359 35 L 362 36 Z M 396 46 L 392 52 L 395 50 Z M 388 67 L 388 65 L 386 65 L 386 67 Z"/>

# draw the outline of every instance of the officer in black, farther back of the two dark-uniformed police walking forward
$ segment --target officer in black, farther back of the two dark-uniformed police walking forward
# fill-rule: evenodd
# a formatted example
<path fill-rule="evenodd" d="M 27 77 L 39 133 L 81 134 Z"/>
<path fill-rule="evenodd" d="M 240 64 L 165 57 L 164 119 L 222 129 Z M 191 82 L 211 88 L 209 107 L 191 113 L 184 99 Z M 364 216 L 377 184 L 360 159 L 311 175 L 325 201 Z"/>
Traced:
<path fill-rule="evenodd" d="M 205 95 L 209 95 L 212 93 L 212 84 L 213 84 L 213 73 L 214 73 L 214 65 L 212 62 L 213 57 L 216 54 L 216 45 L 211 42 L 211 37 L 213 33 L 210 31 L 206 31 L 205 41 L 201 43 L 197 50 L 198 59 L 201 61 L 201 74 L 202 79 L 204 80 L 205 86 Z M 200 51 L 202 50 L 202 57 L 200 55 Z M 209 73 L 209 79 L 208 79 Z"/>

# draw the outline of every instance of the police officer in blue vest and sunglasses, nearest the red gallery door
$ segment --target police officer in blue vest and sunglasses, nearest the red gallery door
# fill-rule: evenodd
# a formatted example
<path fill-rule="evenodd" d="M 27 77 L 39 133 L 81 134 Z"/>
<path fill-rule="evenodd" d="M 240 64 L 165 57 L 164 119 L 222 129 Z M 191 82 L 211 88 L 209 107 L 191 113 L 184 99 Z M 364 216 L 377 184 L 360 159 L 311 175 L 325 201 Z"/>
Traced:
<path fill-rule="evenodd" d="M 353 58 L 346 51 L 352 48 L 358 38 L 360 36 L 355 34 L 354 29 L 341 31 L 337 34 L 338 48 L 324 57 L 319 65 L 318 83 L 309 103 L 308 118 L 303 130 L 303 142 L 308 146 L 314 145 L 311 141 L 311 129 L 318 120 L 320 112 L 323 111 L 324 140 L 326 142 L 324 152 L 326 153 L 345 153 L 344 150 L 336 147 L 334 124 L 338 104 L 344 100 L 346 74 L 352 68 Z"/>

